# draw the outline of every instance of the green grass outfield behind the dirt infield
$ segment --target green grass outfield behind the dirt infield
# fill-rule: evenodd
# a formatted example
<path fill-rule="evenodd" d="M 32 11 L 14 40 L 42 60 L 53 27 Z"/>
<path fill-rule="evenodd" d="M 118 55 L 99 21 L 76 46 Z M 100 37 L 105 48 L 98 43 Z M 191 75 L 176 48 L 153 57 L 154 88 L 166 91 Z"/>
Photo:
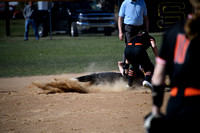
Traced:
<path fill-rule="evenodd" d="M 1 20 L 0 25 L 5 25 Z M 24 21 L 11 20 L 11 37 L 0 27 L 0 77 L 50 75 L 118 70 L 124 43 L 113 36 L 84 34 L 80 37 L 53 35 L 36 41 L 30 30 L 24 41 Z M 162 35 L 155 35 L 159 46 Z M 154 62 L 152 50 L 148 50 Z"/>

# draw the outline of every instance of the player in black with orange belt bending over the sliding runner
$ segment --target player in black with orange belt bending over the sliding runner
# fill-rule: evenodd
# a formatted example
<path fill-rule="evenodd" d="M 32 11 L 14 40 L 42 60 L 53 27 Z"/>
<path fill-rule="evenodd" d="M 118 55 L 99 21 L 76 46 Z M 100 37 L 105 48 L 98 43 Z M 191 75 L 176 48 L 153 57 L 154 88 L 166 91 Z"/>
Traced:
<path fill-rule="evenodd" d="M 127 61 L 124 64 L 124 69 L 128 69 L 130 63 L 132 67 L 128 71 L 128 85 L 127 88 L 132 86 L 132 82 L 137 75 L 139 66 L 143 68 L 145 72 L 145 77 L 143 81 L 143 86 L 152 88 L 151 77 L 154 70 L 154 65 L 152 64 L 146 50 L 152 47 L 155 56 L 158 55 L 158 48 L 156 46 L 155 39 L 148 34 L 147 31 L 142 30 L 138 35 L 133 37 L 128 43 L 124 50 L 124 55 Z"/>

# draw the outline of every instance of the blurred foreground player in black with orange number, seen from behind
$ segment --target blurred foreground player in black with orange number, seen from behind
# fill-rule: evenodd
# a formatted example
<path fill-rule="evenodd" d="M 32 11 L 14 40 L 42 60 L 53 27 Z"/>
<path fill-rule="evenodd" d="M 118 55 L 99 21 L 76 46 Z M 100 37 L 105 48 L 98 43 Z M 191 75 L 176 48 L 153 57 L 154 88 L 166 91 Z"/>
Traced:
<path fill-rule="evenodd" d="M 152 78 L 153 107 L 144 123 L 147 132 L 200 132 L 200 0 L 190 0 L 194 13 L 163 36 Z M 164 81 L 169 75 L 171 97 L 161 113 Z"/>

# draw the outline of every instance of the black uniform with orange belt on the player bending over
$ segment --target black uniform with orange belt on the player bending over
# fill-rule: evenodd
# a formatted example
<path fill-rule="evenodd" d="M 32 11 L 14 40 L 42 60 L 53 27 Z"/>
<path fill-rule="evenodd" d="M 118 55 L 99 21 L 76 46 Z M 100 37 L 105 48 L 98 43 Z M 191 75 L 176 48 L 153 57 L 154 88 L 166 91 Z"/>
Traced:
<path fill-rule="evenodd" d="M 144 69 L 145 72 L 153 72 L 154 65 L 152 64 L 146 50 L 151 46 L 151 41 L 155 39 L 148 34 L 139 34 L 135 36 L 124 50 L 125 58 L 132 65 L 129 69 L 128 74 L 128 85 L 132 86 L 132 81 L 139 71 L 139 65 Z M 145 76 L 145 80 L 151 80 L 151 75 Z"/>

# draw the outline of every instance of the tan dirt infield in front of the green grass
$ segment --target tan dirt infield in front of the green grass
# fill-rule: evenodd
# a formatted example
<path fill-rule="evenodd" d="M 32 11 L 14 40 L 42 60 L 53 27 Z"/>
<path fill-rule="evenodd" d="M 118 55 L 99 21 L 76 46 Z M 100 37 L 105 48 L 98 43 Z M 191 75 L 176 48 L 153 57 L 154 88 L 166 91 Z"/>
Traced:
<path fill-rule="evenodd" d="M 143 117 L 151 110 L 148 89 L 126 90 L 120 83 L 89 93 L 45 94 L 32 84 L 81 75 L 0 78 L 0 132 L 144 133 Z"/>

